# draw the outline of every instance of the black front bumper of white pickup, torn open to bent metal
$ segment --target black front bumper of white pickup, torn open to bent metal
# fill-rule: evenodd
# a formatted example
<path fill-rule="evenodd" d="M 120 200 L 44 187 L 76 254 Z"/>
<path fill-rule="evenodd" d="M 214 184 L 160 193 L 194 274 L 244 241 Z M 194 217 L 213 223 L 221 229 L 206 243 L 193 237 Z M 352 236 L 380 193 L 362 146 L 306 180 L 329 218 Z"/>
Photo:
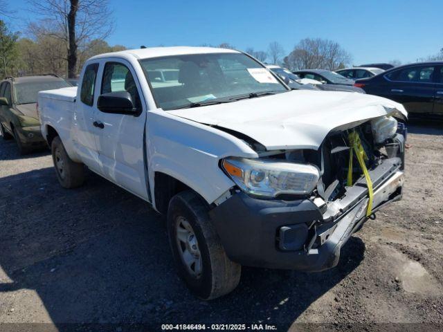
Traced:
<path fill-rule="evenodd" d="M 401 199 L 401 165 L 401 158 L 389 158 L 370 171 L 373 212 Z M 341 248 L 368 219 L 367 205 L 368 188 L 361 178 L 323 213 L 309 199 L 260 200 L 237 192 L 210 216 L 231 260 L 244 266 L 320 271 L 338 264 Z"/>

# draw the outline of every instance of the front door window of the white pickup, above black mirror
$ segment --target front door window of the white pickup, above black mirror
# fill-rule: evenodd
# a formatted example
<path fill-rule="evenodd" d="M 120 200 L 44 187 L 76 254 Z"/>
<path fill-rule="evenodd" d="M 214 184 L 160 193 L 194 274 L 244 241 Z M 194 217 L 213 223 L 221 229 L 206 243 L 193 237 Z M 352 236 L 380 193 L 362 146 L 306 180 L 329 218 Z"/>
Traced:
<path fill-rule="evenodd" d="M 124 64 L 107 62 L 103 72 L 102 93 L 127 91 L 132 97 L 135 107 L 140 107 L 140 95 L 131 71 Z"/>

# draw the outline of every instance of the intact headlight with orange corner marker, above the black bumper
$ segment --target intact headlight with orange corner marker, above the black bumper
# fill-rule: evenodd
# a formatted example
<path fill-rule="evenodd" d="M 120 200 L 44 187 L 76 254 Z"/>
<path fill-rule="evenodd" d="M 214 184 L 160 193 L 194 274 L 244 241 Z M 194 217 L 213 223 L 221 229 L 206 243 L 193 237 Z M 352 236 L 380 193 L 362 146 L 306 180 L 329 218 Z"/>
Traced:
<path fill-rule="evenodd" d="M 310 194 L 320 177 L 314 165 L 284 161 L 226 158 L 222 165 L 244 192 L 267 198 L 279 194 Z"/>

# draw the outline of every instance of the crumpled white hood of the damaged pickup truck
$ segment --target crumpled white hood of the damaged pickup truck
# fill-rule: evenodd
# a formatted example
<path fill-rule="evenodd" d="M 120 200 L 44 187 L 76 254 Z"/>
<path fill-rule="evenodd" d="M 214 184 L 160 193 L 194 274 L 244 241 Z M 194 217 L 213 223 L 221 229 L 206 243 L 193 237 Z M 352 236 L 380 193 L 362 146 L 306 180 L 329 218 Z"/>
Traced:
<path fill-rule="evenodd" d="M 318 149 L 334 129 L 379 116 L 408 115 L 403 105 L 375 95 L 302 89 L 168 113 L 243 133 L 267 150 Z"/>

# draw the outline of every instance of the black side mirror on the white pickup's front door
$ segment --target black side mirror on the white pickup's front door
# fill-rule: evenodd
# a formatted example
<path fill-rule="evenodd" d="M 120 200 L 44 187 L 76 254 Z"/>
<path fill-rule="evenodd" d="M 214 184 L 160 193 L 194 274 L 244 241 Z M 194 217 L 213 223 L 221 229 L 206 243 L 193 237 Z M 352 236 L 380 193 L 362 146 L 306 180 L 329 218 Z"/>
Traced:
<path fill-rule="evenodd" d="M 104 93 L 98 97 L 97 108 L 103 113 L 138 116 L 140 109 L 134 107 L 131 94 L 127 91 Z"/>

